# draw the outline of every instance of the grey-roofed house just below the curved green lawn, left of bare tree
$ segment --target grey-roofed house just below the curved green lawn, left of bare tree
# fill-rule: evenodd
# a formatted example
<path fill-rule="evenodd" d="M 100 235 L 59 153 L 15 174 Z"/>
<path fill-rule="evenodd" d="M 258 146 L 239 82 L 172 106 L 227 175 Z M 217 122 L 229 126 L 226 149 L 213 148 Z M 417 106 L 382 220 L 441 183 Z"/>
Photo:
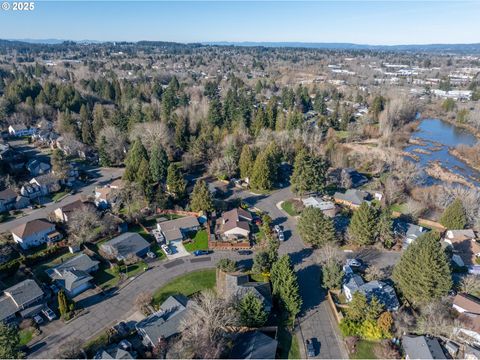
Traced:
<path fill-rule="evenodd" d="M 162 337 L 168 339 L 180 333 L 180 325 L 192 306 L 192 300 L 184 295 L 172 295 L 160 309 L 138 322 L 135 328 L 145 346 L 155 346 Z"/>

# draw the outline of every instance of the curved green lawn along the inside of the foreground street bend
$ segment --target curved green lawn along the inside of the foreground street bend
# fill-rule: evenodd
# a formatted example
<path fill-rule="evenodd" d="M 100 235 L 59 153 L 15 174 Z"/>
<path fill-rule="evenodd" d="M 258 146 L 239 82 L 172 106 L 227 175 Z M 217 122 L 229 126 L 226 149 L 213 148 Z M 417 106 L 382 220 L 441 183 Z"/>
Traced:
<path fill-rule="evenodd" d="M 215 284 L 215 269 L 193 271 L 157 289 L 153 293 L 153 304 L 159 305 L 174 294 L 190 296 L 204 289 L 212 289 Z"/>

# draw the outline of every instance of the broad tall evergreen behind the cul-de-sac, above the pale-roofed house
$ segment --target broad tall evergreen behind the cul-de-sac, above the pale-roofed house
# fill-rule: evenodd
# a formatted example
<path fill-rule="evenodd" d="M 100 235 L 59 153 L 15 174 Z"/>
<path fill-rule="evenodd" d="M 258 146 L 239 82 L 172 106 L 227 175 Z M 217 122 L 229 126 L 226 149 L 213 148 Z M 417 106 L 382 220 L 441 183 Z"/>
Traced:
<path fill-rule="evenodd" d="M 322 192 L 327 182 L 328 163 L 302 149 L 295 157 L 291 178 L 292 189 L 300 195 Z"/>

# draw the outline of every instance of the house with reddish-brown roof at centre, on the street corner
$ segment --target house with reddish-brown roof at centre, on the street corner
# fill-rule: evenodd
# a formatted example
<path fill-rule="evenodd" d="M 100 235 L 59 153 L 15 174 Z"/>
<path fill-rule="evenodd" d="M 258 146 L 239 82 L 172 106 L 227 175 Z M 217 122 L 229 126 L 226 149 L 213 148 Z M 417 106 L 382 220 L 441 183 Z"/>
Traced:
<path fill-rule="evenodd" d="M 215 223 L 215 235 L 224 239 L 248 239 L 252 221 L 252 214 L 242 208 L 226 211 Z"/>

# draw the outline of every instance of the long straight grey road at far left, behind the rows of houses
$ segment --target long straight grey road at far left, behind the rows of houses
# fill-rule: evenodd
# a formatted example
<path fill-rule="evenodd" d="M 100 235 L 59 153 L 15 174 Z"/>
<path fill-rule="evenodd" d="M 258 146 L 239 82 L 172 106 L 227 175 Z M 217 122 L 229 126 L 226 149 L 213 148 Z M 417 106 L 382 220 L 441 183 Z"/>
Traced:
<path fill-rule="evenodd" d="M 78 188 L 77 189 L 78 192 L 76 194 L 67 195 L 61 201 L 58 201 L 58 202 L 52 201 L 50 203 L 47 203 L 45 204 L 44 207 L 40 209 L 26 210 L 25 211 L 26 215 L 17 219 L 13 219 L 13 220 L 1 223 L 0 233 L 10 231 L 14 227 L 24 224 L 30 220 L 47 218 L 48 214 L 53 212 L 55 209 L 80 199 L 81 195 L 93 195 L 93 191 L 95 190 L 95 187 L 106 184 L 112 178 L 115 179 L 115 178 L 121 177 L 124 172 L 124 169 L 123 168 L 98 168 L 95 170 L 91 170 L 91 172 L 96 173 L 95 174 L 96 178 L 91 183 L 81 188 Z"/>

